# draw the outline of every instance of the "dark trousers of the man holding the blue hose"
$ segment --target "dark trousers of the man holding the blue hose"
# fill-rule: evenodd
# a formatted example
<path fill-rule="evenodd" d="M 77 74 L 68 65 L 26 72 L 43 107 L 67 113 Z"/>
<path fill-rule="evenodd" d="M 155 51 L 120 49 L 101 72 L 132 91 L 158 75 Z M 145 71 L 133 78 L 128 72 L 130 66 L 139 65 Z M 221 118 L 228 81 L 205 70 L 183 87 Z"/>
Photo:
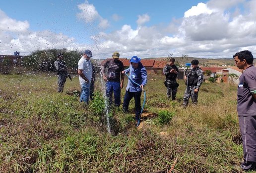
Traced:
<path fill-rule="evenodd" d="M 129 90 L 126 91 L 125 98 L 124 98 L 124 104 L 123 104 L 123 110 L 125 112 L 128 112 L 128 107 L 129 107 L 129 102 L 134 97 L 135 101 L 135 119 L 139 119 L 140 111 L 141 111 L 141 106 L 140 106 L 140 96 L 141 96 L 141 91 L 137 92 L 130 92 Z"/>

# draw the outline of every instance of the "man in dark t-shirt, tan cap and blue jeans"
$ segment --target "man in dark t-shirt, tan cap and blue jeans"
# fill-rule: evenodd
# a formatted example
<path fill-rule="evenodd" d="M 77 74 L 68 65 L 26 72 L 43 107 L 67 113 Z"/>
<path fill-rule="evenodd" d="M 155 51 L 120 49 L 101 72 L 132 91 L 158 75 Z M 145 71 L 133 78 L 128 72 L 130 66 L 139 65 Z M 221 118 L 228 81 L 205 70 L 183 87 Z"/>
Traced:
<path fill-rule="evenodd" d="M 119 52 L 115 51 L 112 59 L 108 60 L 103 67 L 103 79 L 106 81 L 106 97 L 112 104 L 112 93 L 114 92 L 115 106 L 121 104 L 121 88 L 124 86 L 124 64 L 119 60 Z M 121 82 L 120 82 L 121 77 Z"/>

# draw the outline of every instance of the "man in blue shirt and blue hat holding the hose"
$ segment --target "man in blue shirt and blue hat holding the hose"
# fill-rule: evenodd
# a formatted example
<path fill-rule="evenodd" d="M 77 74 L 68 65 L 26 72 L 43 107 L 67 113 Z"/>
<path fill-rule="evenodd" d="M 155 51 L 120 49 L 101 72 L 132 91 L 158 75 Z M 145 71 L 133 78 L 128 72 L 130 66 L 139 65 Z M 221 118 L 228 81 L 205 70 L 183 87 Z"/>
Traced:
<path fill-rule="evenodd" d="M 129 102 L 134 97 L 135 101 L 135 120 L 136 123 L 139 120 L 140 115 L 140 95 L 143 87 L 147 83 L 147 71 L 145 67 L 141 64 L 140 58 L 137 56 L 132 56 L 130 61 L 131 64 L 128 69 L 124 70 L 122 73 L 129 73 L 129 77 L 132 80 L 128 80 L 128 84 L 126 87 L 126 94 L 124 98 L 123 110 L 124 112 L 128 112 Z M 140 86 L 138 86 L 137 84 Z"/>

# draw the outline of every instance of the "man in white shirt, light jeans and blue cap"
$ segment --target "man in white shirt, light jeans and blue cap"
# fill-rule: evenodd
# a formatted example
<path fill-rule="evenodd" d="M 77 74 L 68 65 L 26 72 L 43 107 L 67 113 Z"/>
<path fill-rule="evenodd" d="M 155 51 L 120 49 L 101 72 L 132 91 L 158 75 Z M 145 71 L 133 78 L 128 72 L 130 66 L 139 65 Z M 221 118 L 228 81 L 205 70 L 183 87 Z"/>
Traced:
<path fill-rule="evenodd" d="M 90 85 L 92 79 L 92 64 L 90 58 L 92 57 L 91 50 L 85 50 L 81 59 L 78 62 L 78 75 L 81 86 L 80 102 L 89 104 Z"/>

